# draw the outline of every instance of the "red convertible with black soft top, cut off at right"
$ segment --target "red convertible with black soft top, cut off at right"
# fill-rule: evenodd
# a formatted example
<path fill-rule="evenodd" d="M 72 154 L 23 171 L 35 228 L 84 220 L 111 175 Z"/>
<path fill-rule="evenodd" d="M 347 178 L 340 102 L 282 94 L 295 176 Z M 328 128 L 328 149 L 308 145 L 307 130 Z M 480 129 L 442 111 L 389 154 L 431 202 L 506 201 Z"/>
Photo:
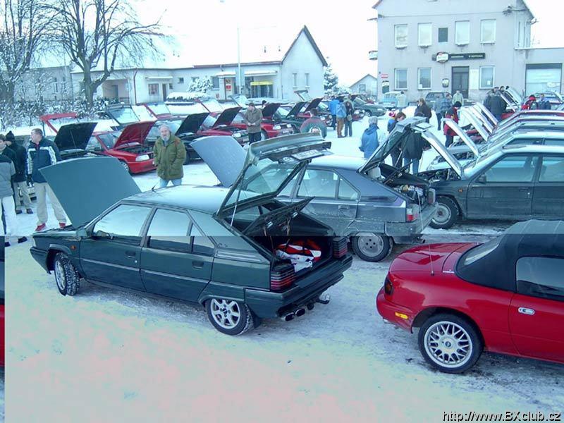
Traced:
<path fill-rule="evenodd" d="M 482 350 L 564 364 L 564 221 L 515 223 L 484 244 L 419 245 L 399 255 L 376 299 L 442 372 Z"/>

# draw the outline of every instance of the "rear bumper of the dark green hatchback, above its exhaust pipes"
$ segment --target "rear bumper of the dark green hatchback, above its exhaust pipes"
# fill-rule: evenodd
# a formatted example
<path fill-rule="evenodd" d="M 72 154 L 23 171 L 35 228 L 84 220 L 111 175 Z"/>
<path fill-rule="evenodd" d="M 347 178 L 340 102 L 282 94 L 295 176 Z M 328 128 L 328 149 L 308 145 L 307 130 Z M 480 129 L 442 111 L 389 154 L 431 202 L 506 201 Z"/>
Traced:
<path fill-rule="evenodd" d="M 245 302 L 262 319 L 281 317 L 287 310 L 307 305 L 319 298 L 330 286 L 343 278 L 343 272 L 353 264 L 353 256 L 333 260 L 313 274 L 300 279 L 293 288 L 283 293 L 264 290 L 245 290 Z"/>

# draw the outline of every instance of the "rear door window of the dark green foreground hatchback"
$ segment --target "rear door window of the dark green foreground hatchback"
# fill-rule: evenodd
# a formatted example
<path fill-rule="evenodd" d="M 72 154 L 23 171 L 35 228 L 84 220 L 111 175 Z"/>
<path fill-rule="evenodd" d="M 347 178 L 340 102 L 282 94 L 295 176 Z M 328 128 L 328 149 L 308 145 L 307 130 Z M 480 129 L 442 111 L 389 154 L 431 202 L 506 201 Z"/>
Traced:
<path fill-rule="evenodd" d="M 183 212 L 157 209 L 147 236 L 147 246 L 161 250 L 190 252 L 190 218 Z"/>

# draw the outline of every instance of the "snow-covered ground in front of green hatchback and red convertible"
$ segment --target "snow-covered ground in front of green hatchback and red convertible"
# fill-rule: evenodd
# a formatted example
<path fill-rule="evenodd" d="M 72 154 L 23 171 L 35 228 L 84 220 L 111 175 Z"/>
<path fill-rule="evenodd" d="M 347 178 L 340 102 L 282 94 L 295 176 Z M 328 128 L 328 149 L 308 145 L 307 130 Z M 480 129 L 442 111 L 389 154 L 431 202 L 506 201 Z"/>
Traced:
<path fill-rule="evenodd" d="M 417 336 L 376 312 L 392 257 L 355 258 L 329 305 L 230 337 L 198 306 L 85 282 L 63 297 L 28 248 L 7 250 L 15 422 L 422 422 L 453 411 L 546 415 L 564 404 L 563 366 L 486 353 L 465 375 L 425 364 Z"/>

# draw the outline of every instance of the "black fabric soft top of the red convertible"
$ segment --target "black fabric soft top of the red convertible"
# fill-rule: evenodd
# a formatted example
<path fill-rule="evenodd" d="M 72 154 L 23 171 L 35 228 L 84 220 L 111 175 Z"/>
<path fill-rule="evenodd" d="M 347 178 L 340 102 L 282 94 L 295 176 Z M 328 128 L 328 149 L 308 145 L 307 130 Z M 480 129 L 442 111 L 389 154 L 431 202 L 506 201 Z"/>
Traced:
<path fill-rule="evenodd" d="M 529 220 L 515 223 L 489 243 L 497 246 L 470 264 L 465 264 L 465 258 L 474 249 L 462 255 L 456 266 L 456 274 L 470 283 L 515 292 L 518 259 L 527 256 L 564 258 L 564 221 Z"/>

